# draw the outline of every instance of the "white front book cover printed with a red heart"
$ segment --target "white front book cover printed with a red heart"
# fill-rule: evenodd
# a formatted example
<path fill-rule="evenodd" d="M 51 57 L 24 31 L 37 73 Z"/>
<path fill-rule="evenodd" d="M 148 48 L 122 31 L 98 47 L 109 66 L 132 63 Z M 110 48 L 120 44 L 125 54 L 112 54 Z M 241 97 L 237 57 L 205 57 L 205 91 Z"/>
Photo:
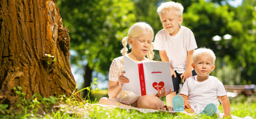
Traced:
<path fill-rule="evenodd" d="M 166 92 L 173 90 L 169 62 L 143 62 L 146 94 L 157 94 L 163 86 Z"/>

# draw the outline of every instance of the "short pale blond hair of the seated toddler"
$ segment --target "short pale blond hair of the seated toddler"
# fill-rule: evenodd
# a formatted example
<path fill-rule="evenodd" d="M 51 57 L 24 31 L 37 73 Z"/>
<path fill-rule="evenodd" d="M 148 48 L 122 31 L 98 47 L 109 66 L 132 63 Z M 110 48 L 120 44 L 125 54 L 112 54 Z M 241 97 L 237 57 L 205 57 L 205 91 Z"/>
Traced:
<path fill-rule="evenodd" d="M 210 57 L 212 57 L 212 63 L 214 65 L 215 60 L 216 60 L 216 56 L 214 54 L 214 52 L 211 49 L 202 47 L 202 48 L 198 48 L 194 51 L 193 55 L 192 55 L 192 59 L 193 59 L 193 63 L 196 62 L 196 58 L 198 56 L 202 56 L 202 55 L 208 55 Z"/>

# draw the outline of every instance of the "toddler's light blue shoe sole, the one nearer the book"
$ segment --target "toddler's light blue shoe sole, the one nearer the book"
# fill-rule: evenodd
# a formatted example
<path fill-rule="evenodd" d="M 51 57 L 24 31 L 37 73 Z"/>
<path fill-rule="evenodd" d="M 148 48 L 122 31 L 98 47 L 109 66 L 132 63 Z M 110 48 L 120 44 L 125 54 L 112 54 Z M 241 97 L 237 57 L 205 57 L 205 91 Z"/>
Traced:
<path fill-rule="evenodd" d="M 182 96 L 176 95 L 172 98 L 173 111 L 184 111 L 184 100 Z"/>

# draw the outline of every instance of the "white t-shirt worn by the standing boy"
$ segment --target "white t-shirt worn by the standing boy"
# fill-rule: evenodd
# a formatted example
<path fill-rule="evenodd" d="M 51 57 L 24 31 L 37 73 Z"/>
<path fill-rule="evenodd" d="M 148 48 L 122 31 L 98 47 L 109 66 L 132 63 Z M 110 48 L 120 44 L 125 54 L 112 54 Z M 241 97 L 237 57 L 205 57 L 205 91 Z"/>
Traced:
<path fill-rule="evenodd" d="M 181 26 L 180 31 L 175 36 L 170 36 L 165 29 L 162 29 L 156 34 L 154 41 L 154 49 L 166 51 L 170 65 L 177 73 L 186 71 L 187 51 L 196 48 L 197 44 L 193 32 L 184 26 Z"/>

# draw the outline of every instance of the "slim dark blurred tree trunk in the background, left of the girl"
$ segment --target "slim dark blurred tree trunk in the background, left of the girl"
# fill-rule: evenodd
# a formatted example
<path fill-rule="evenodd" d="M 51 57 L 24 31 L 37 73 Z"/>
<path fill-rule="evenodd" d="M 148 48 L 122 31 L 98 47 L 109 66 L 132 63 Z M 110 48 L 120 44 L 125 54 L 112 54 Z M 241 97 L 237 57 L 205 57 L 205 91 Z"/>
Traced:
<path fill-rule="evenodd" d="M 90 69 L 89 64 L 85 66 L 85 75 L 84 75 L 84 87 L 91 86 L 91 78 L 92 78 L 93 70 Z M 84 90 L 83 98 L 87 99 L 88 90 Z"/>

